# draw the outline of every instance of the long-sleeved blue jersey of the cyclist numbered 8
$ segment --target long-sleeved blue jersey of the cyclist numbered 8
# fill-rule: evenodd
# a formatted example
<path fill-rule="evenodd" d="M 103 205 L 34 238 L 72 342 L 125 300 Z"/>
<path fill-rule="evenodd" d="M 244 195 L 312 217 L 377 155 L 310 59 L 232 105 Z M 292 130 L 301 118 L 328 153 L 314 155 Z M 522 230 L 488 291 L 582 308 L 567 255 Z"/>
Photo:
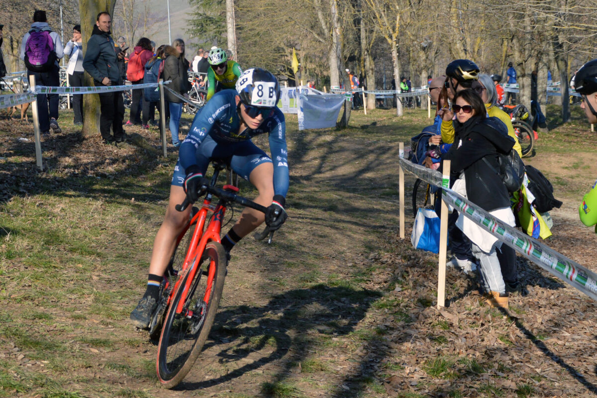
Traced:
<path fill-rule="evenodd" d="M 196 153 L 205 137 L 209 136 L 221 146 L 251 140 L 260 134 L 269 134 L 269 149 L 273 161 L 273 189 L 275 195 L 286 196 L 288 193 L 288 150 L 286 146 L 286 123 L 284 113 L 275 107 L 270 116 L 256 129 L 245 128 L 239 132 L 241 119 L 236 110 L 236 90 L 223 90 L 202 107 L 193 119 L 193 124 L 180 145 L 179 161 L 186 170 L 196 165 Z M 229 155 L 232 155 L 230 153 Z"/>

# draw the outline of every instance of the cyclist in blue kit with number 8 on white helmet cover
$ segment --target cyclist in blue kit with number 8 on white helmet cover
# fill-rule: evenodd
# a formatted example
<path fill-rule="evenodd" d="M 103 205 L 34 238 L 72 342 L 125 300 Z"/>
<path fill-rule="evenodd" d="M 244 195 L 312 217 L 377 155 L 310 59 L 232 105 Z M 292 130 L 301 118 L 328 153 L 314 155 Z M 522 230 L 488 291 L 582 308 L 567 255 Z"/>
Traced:
<path fill-rule="evenodd" d="M 267 207 L 265 214 L 251 208 L 242 211 L 239 220 L 221 239 L 227 253 L 263 221 L 270 230 L 277 230 L 286 220 L 288 153 L 284 114 L 276 106 L 279 97 L 279 83 L 271 73 L 260 68 L 248 69 L 236 81 L 236 90 L 217 92 L 195 116 L 180 146 L 164 223 L 153 242 L 147 289 L 131 313 L 131 320 L 138 328 L 147 328 L 149 324 L 176 237 L 189 220 L 191 206 L 182 212 L 175 206 L 185 197 L 194 203 L 202 196 L 201 187 L 210 183 L 205 172 L 211 158 L 232 156 L 232 169 L 259 192 L 254 202 Z M 269 134 L 271 158 L 251 141 L 252 137 L 265 133 Z"/>

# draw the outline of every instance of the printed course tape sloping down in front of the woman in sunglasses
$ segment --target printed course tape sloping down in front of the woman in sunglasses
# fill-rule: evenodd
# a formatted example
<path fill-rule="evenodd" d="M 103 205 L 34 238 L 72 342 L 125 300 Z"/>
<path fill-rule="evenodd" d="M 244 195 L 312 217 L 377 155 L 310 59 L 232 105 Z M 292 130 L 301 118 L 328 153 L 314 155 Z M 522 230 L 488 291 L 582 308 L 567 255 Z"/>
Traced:
<path fill-rule="evenodd" d="M 417 175 L 421 180 L 436 186 L 441 186 L 441 182 L 439 185 L 437 184 L 438 181 L 435 175 L 432 175 L 433 178 L 424 178 L 427 174 L 421 170 L 425 169 L 424 166 L 416 165 L 404 158 L 399 158 L 398 160 L 400 165 L 409 172 L 412 172 L 413 169 L 417 169 L 417 172 L 413 174 Z M 574 288 L 597 301 L 597 274 L 593 271 L 570 260 L 570 258 L 559 254 L 552 248 L 549 248 L 549 246 L 538 242 L 538 240 L 533 237 L 510 227 L 503 223 L 503 221 L 497 220 L 497 218 L 494 218 L 484 209 L 481 209 L 474 203 L 469 202 L 469 200 L 464 199 L 451 189 L 443 189 L 442 199 L 444 199 L 448 205 L 451 205 L 462 212 L 465 217 L 470 218 L 470 220 L 481 226 L 482 229 L 491 233 L 491 235 L 524 255 L 528 260 L 533 261 L 533 263 L 548 271 L 553 276 L 564 280 Z"/>

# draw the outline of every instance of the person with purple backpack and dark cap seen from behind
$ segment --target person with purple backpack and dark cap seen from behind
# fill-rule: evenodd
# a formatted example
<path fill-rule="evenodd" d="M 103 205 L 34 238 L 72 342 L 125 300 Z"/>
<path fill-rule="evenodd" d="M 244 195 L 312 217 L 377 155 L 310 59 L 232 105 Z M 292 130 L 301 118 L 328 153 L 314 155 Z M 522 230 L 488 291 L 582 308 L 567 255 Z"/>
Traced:
<path fill-rule="evenodd" d="M 53 60 L 52 63 L 48 62 L 48 66 L 44 68 L 44 70 L 34 70 L 31 67 L 27 66 L 27 76 L 35 76 L 35 85 L 39 86 L 47 86 L 47 87 L 58 87 L 60 86 L 60 69 L 58 66 L 58 60 L 63 57 L 64 55 L 64 48 L 62 47 L 62 42 L 60 41 L 60 35 L 52 30 L 50 25 L 48 25 L 48 19 L 45 15 L 45 11 L 43 10 L 36 10 L 33 13 L 33 23 L 31 24 L 31 29 L 29 32 L 25 33 L 23 36 L 23 41 L 21 42 L 21 60 L 30 61 L 30 58 L 38 56 L 39 53 L 43 53 L 45 50 L 42 48 L 36 48 L 38 50 L 37 53 L 32 52 L 32 48 L 35 48 L 36 44 L 41 42 L 40 40 L 36 40 L 36 43 L 30 42 L 29 46 L 27 46 L 27 42 L 29 38 L 33 35 L 33 38 L 40 38 L 39 32 L 48 32 L 44 33 L 44 35 L 49 35 L 50 39 L 47 40 L 47 44 L 51 45 L 51 51 L 48 51 L 50 55 L 47 57 L 45 56 L 48 52 L 44 54 L 44 60 Z M 47 36 L 46 36 L 47 37 Z M 33 39 L 32 38 L 32 39 Z M 33 41 L 33 40 L 32 40 Z M 49 42 L 51 41 L 51 43 Z M 27 49 L 29 47 L 29 49 Z M 47 48 L 47 47 L 46 47 Z M 39 61 L 36 58 L 36 61 L 39 64 Z M 27 61 L 25 62 L 27 64 Z M 44 64 L 45 66 L 46 64 Z M 38 68 L 36 68 L 38 69 Z M 55 134 L 62 132 L 62 129 L 58 125 L 58 103 L 59 103 L 59 96 L 58 94 L 38 94 L 37 95 L 37 107 L 38 107 L 38 118 L 39 118 L 39 130 L 42 132 L 43 135 L 50 134 L 50 128 Z"/>

